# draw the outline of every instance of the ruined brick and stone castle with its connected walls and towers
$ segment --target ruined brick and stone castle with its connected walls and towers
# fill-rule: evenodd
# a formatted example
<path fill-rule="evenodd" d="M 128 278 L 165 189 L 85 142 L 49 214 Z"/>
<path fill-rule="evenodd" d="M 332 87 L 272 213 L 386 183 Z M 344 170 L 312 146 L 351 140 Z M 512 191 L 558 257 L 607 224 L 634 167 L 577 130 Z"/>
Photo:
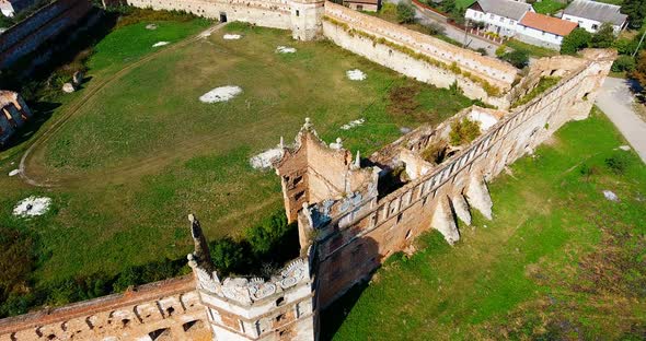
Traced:
<path fill-rule="evenodd" d="M 274 162 L 285 213 L 298 223 L 300 257 L 270 278 L 222 278 L 191 215 L 193 277 L 0 320 L 1 341 L 316 340 L 321 309 L 422 233 L 435 228 L 454 244 L 455 217 L 466 225 L 474 211 L 493 219 L 487 181 L 565 122 L 585 119 L 615 58 L 609 50 L 543 58 L 521 78 L 509 64 L 328 2 L 135 1 L 272 27 L 290 23 L 280 27 L 295 38 L 327 37 L 422 81 L 458 82 L 468 96 L 498 108 L 472 106 L 368 157 L 342 140 L 322 141 L 308 119 L 293 143 L 280 143 Z M 560 82 L 518 105 L 544 77 Z M 463 118 L 480 122 L 480 136 L 449 143 L 452 126 Z M 429 150 L 441 157 L 429 157 Z"/>

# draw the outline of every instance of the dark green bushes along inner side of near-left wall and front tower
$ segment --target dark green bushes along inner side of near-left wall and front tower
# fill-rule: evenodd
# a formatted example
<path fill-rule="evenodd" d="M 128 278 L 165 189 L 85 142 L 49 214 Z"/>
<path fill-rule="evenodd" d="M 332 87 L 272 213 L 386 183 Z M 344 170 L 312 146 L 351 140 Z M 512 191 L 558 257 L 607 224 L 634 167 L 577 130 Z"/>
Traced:
<path fill-rule="evenodd" d="M 161 281 L 191 272 L 186 258 L 161 259 L 124 269 L 117 275 L 96 272 L 50 283 L 34 283 L 31 271 L 37 249 L 31 237 L 1 228 L 0 317 L 25 314 L 31 308 L 61 306 Z M 285 262 L 299 256 L 298 231 L 287 224 L 282 210 L 244 231 L 241 238 L 224 237 L 210 243 L 220 277 L 232 273 L 269 277 Z"/>

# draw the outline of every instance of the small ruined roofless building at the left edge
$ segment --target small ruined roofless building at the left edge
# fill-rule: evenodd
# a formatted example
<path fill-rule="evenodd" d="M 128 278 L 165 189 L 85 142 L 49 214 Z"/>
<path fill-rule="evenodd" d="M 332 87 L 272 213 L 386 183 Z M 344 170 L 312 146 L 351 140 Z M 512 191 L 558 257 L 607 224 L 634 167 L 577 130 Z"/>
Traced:
<path fill-rule="evenodd" d="M 32 118 L 32 111 L 20 94 L 0 90 L 0 145 Z"/>

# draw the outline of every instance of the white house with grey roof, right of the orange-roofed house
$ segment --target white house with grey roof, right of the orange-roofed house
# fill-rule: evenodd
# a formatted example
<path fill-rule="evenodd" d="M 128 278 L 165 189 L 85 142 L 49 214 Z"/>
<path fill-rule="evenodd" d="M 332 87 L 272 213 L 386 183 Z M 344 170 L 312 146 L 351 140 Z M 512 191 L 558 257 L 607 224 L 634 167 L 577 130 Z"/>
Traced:
<path fill-rule="evenodd" d="M 622 14 L 619 5 L 588 0 L 574 0 L 563 11 L 563 20 L 577 23 L 590 33 L 599 31 L 603 23 L 611 23 L 618 35 L 627 23 L 627 15 Z"/>

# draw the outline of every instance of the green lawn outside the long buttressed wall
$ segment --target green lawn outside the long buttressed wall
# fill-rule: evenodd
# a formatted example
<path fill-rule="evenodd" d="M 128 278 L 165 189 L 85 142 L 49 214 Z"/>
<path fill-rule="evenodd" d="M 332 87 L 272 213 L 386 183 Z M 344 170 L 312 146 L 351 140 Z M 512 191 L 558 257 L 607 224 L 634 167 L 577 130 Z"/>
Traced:
<path fill-rule="evenodd" d="M 622 144 L 600 111 L 567 124 L 489 184 L 493 221 L 461 226 L 453 248 L 423 236 L 354 308 L 358 290 L 326 311 L 323 328 L 343 320 L 334 340 L 641 339 L 646 167 Z"/>

